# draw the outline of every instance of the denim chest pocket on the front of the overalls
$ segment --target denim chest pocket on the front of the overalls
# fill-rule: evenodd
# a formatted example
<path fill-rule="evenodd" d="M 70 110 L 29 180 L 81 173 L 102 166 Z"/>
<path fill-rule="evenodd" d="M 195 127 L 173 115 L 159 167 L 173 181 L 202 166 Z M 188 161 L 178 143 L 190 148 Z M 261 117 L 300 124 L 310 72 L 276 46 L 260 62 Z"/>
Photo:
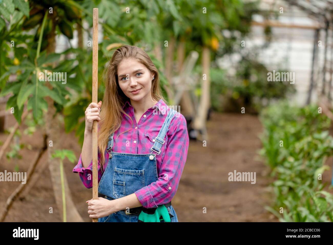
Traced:
<path fill-rule="evenodd" d="M 113 194 L 116 198 L 128 196 L 145 186 L 145 170 L 115 167 Z"/>

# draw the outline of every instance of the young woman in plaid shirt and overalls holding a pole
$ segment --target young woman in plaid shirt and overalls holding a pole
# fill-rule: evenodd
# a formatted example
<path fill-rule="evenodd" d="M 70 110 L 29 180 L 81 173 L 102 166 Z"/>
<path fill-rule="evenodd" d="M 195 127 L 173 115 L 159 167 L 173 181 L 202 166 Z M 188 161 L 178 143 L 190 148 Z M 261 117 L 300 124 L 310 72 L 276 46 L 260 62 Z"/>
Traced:
<path fill-rule="evenodd" d="M 187 156 L 184 116 L 167 106 L 158 70 L 141 48 L 118 48 L 104 74 L 103 110 L 102 101 L 87 107 L 82 153 L 73 169 L 92 188 L 92 125 L 97 120 L 99 199 L 87 201 L 89 217 L 178 222 L 171 199 Z"/>

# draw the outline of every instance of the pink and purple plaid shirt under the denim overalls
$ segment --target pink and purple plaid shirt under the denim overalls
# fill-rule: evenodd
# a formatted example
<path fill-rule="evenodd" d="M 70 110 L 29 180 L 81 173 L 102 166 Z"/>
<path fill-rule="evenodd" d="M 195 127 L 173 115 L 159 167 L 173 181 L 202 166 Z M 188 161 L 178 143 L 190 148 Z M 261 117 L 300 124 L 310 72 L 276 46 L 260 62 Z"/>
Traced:
<path fill-rule="evenodd" d="M 114 134 L 112 151 L 132 154 L 151 153 L 150 148 L 154 145 L 153 140 L 158 135 L 167 115 L 166 110 L 169 108 L 162 99 L 159 100 L 155 106 L 149 108 L 142 115 L 138 124 L 135 120 L 134 108 L 129 100 L 125 103 L 123 109 L 132 118 L 133 125 L 130 118 L 123 114 L 121 126 Z M 161 153 L 156 155 L 158 180 L 135 192 L 143 207 L 157 208 L 158 205 L 170 202 L 176 194 L 186 162 L 188 143 L 186 120 L 183 115 L 176 113 L 166 132 Z M 104 155 L 106 159 L 104 163 L 105 170 L 109 160 L 109 153 L 106 149 Z M 98 153 L 98 162 L 100 162 L 100 157 L 100 153 Z M 92 188 L 92 169 L 92 161 L 88 168 L 82 167 L 80 155 L 79 162 L 74 167 L 73 172 L 79 172 L 80 178 L 87 188 Z M 100 164 L 98 164 L 98 182 L 101 178 L 102 173 Z"/>

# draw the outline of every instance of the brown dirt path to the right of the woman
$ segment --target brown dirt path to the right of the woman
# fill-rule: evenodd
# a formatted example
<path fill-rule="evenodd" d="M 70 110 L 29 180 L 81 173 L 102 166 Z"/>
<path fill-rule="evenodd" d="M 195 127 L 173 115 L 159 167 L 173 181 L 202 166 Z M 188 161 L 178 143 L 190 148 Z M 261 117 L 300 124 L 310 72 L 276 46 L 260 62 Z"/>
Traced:
<path fill-rule="evenodd" d="M 265 172 L 256 161 L 262 127 L 256 116 L 214 113 L 207 124 L 207 146 L 190 142 L 178 192 L 172 202 L 179 221 L 277 221 L 263 208 L 269 197 Z M 228 173 L 256 172 L 256 183 L 229 182 Z M 206 207 L 207 213 L 203 213 Z"/>

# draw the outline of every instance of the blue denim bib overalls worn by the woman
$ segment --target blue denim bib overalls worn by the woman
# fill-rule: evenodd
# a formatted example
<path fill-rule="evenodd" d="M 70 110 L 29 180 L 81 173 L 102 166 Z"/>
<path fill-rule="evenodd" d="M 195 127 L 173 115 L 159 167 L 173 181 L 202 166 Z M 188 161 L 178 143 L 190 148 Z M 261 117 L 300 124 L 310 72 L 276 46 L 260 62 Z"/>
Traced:
<path fill-rule="evenodd" d="M 114 133 L 110 135 L 107 146 L 107 151 L 110 151 L 109 162 L 98 185 L 98 192 L 105 195 L 106 199 L 112 200 L 128 196 L 158 180 L 156 154 L 161 152 L 160 149 L 162 144 L 164 144 L 166 131 L 176 111 L 170 108 L 167 113 L 166 119 L 151 148 L 152 152 L 149 154 L 112 152 Z M 153 154 L 153 151 L 156 153 Z M 171 222 L 178 222 L 172 205 L 166 209 L 173 215 Z M 138 219 L 139 215 L 126 214 L 124 210 L 120 210 L 109 216 L 99 218 L 98 222 L 138 222 Z"/>

